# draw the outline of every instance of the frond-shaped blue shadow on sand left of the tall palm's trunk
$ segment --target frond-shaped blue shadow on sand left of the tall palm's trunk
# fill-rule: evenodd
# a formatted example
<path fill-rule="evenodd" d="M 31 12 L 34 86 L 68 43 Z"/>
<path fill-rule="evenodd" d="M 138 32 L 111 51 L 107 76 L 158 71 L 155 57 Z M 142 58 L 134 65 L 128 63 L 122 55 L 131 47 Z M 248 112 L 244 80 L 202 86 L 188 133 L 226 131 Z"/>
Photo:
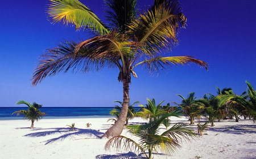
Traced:
<path fill-rule="evenodd" d="M 53 143 L 57 140 L 64 140 L 67 137 L 71 137 L 72 136 L 80 136 L 80 135 L 86 135 L 86 136 L 94 136 L 96 138 L 100 138 L 102 135 L 104 135 L 103 132 L 97 131 L 97 130 L 93 130 L 93 129 L 82 129 L 82 128 L 76 128 L 77 131 L 69 131 L 70 128 L 64 128 L 64 127 L 60 127 L 60 128 L 42 128 L 40 130 L 46 130 L 46 131 L 42 131 L 42 132 L 33 132 L 24 136 L 30 136 L 30 137 L 40 137 L 40 136 L 47 136 L 47 135 L 52 135 L 52 134 L 56 134 L 59 133 L 61 134 L 59 137 L 55 137 L 53 139 L 49 139 L 46 140 L 46 145 L 49 143 Z"/>

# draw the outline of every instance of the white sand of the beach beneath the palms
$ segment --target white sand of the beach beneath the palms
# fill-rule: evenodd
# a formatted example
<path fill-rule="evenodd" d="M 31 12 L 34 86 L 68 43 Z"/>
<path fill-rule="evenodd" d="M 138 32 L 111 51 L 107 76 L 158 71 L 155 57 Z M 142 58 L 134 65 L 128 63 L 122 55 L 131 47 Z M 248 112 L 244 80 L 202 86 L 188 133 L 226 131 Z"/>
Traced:
<path fill-rule="evenodd" d="M 171 118 L 172 123 L 187 123 L 186 118 Z M 104 150 L 108 139 L 97 139 L 111 126 L 108 118 L 41 119 L 30 130 L 26 120 L 0 121 L 0 158 L 141 158 L 129 151 Z M 141 118 L 131 124 L 146 122 Z M 75 123 L 77 131 L 68 131 Z M 86 127 L 86 123 L 92 126 Z M 154 158 L 256 158 L 256 124 L 249 120 L 215 122 L 207 133 L 182 143 L 173 156 L 163 154 Z M 196 128 L 196 125 L 192 126 Z M 126 130 L 122 135 L 127 134 Z M 85 139 L 88 138 L 88 139 Z"/>

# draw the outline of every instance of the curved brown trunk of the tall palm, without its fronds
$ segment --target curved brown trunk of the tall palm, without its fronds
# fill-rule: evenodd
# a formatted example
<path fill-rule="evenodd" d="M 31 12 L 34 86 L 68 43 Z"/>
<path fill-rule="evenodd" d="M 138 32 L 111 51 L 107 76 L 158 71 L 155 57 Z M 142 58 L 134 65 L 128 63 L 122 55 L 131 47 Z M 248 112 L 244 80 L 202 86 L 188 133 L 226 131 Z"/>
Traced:
<path fill-rule="evenodd" d="M 112 127 L 109 128 L 108 131 L 102 137 L 112 137 L 119 136 L 123 131 L 123 127 L 126 123 L 126 117 L 129 107 L 129 82 L 126 77 L 123 77 L 123 105 L 122 110 L 117 119 L 117 122 L 114 123 Z"/>

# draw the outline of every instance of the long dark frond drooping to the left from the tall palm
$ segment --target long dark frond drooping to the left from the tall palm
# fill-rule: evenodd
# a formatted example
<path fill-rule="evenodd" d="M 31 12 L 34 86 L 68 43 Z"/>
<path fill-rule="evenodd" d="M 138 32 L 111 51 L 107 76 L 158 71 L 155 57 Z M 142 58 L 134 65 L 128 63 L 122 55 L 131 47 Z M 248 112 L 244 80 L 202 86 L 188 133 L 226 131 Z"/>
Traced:
<path fill-rule="evenodd" d="M 32 75 L 32 85 L 40 83 L 46 76 L 54 76 L 61 71 L 67 72 L 71 68 L 73 72 L 88 72 L 101 70 L 105 66 L 115 67 L 110 59 L 93 51 L 95 49 L 93 46 L 92 48 L 83 47 L 75 55 L 74 50 L 77 44 L 79 42 L 66 40 L 61 42 L 57 48 L 48 49 L 45 54 L 41 55 Z"/>

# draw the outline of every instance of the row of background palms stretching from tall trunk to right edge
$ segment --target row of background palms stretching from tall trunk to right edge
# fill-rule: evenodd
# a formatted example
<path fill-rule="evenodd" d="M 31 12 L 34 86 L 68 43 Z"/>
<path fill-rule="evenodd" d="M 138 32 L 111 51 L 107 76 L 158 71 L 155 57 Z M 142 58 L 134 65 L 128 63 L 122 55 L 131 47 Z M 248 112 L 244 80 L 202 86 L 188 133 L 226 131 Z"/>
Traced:
<path fill-rule="evenodd" d="M 256 91 L 254 91 L 253 86 L 246 81 L 247 90 L 241 95 L 234 94 L 232 88 L 217 88 L 217 94 L 207 93 L 203 98 L 196 99 L 195 92 L 189 93 L 188 97 L 185 98 L 180 94 L 177 96 L 182 98 L 181 104 L 176 102 L 171 102 L 175 106 L 170 106 L 170 102 L 166 105 L 161 105 L 155 103 L 155 99 L 147 99 L 147 104 L 139 105 L 141 108 L 136 110 L 134 104 L 138 104 L 139 101 L 133 102 L 130 104 L 129 99 L 129 110 L 126 117 L 126 125 L 128 124 L 129 119 L 134 117 L 142 117 L 149 119 L 149 122 L 152 122 L 152 119 L 158 118 L 160 114 L 170 113 L 172 111 L 182 111 L 181 113 L 188 117 L 190 124 L 194 124 L 195 118 L 199 119 L 201 117 L 207 118 L 210 126 L 214 126 L 214 120 L 220 122 L 221 119 L 236 119 L 238 122 L 241 118 L 250 119 L 255 121 L 256 119 Z M 121 101 L 118 102 L 122 106 Z M 117 121 L 119 114 L 122 110 L 121 106 L 116 105 L 115 108 L 110 111 L 111 115 L 114 115 L 115 118 L 109 119 L 109 121 Z M 168 127 L 167 120 L 163 121 L 164 126 Z"/>

